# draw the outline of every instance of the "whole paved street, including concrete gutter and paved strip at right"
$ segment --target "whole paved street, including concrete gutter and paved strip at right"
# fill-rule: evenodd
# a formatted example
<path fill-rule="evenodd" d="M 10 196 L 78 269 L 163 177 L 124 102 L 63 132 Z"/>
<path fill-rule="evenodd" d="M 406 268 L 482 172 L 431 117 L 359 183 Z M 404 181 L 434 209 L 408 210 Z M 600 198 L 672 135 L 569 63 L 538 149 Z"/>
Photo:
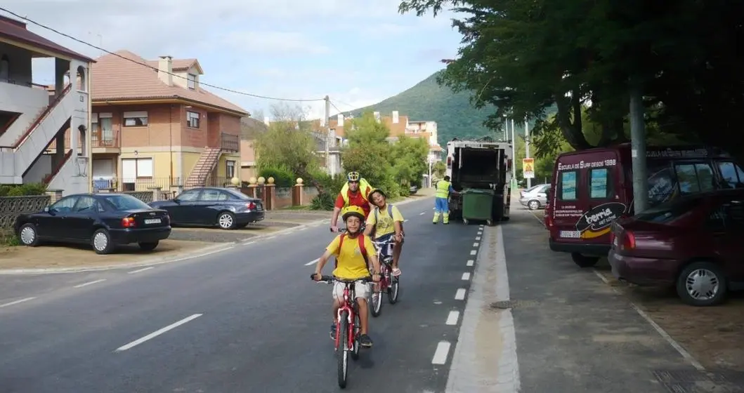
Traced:
<path fill-rule="evenodd" d="M 371 318 L 348 391 L 666 392 L 654 371 L 695 371 L 549 253 L 530 213 L 443 226 L 432 205 L 400 206 L 400 302 Z M 330 286 L 310 282 L 332 238 L 324 224 L 147 270 L 1 276 L 0 392 L 337 392 Z"/>

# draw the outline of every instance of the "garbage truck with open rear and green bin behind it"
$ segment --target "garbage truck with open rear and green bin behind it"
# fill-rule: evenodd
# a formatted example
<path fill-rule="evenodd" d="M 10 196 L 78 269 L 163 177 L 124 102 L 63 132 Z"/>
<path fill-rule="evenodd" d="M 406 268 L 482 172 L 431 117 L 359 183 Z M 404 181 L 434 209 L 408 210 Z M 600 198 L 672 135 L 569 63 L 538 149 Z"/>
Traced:
<path fill-rule="evenodd" d="M 509 219 L 512 179 L 512 144 L 490 137 L 455 138 L 447 143 L 447 169 L 455 192 L 449 195 L 449 217 L 486 221 L 493 225 Z"/>

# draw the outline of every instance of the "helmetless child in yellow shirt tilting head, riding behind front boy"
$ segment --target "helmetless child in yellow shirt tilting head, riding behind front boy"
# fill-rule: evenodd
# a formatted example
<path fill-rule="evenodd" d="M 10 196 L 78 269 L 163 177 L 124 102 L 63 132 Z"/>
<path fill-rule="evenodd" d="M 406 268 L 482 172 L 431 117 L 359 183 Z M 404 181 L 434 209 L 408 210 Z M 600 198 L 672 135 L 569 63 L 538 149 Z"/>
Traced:
<path fill-rule="evenodd" d="M 393 276 L 400 276 L 398 262 L 403 251 L 403 215 L 396 206 L 387 203 L 388 197 L 381 189 L 373 189 L 369 198 L 374 207 L 367 217 L 365 235 L 370 236 L 374 230 L 375 241 L 389 241 L 391 238 L 394 240 Z M 389 251 L 383 248 L 382 252 Z"/>

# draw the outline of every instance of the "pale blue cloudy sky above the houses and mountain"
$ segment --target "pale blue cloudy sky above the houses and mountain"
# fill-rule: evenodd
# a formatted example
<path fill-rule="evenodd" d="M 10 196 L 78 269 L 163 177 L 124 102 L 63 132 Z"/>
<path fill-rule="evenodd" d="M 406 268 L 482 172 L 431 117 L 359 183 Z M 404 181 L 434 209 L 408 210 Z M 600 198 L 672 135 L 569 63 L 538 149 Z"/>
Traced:
<path fill-rule="evenodd" d="M 451 27 L 453 13 L 401 15 L 399 3 L 4 0 L 0 7 L 106 51 L 199 59 L 202 83 L 278 98 L 328 95 L 340 111 L 349 111 L 410 88 L 443 68 L 440 59 L 457 54 L 461 36 Z M 103 54 L 33 23 L 28 29 L 87 56 Z M 35 61 L 34 82 L 53 82 L 53 70 L 51 60 Z M 280 103 L 208 89 L 251 113 L 268 116 Z M 322 100 L 285 103 L 299 105 L 310 118 L 324 111 Z"/>

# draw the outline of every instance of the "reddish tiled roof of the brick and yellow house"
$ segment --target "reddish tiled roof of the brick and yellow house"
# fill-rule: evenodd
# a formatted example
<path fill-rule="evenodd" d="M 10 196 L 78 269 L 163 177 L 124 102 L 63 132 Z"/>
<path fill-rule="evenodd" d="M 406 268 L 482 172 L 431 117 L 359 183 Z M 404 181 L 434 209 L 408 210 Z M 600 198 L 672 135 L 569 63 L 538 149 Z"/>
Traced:
<path fill-rule="evenodd" d="M 173 63 L 176 62 L 180 65 L 187 61 L 173 60 Z M 148 66 L 147 60 L 129 51 L 117 51 L 116 55 L 100 56 L 92 67 L 93 102 L 181 99 L 215 106 L 241 115 L 248 114 L 248 111 L 240 106 L 206 91 L 201 86 L 198 86 L 196 90 L 191 90 L 175 84 L 166 85 L 158 78 L 157 65 L 154 68 Z"/>

